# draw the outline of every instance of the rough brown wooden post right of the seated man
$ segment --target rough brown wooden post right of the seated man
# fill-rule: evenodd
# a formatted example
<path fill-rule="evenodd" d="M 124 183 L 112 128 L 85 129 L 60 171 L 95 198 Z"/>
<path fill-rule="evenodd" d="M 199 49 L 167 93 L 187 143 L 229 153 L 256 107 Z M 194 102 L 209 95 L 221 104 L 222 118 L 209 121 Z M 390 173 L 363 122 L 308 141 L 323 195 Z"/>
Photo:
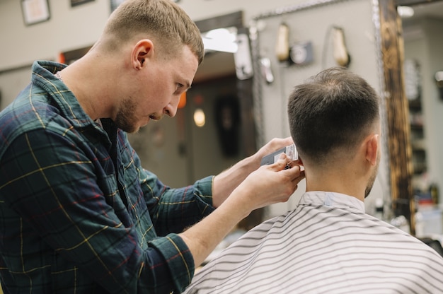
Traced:
<path fill-rule="evenodd" d="M 391 176 L 392 208 L 405 216 L 415 235 L 413 165 L 408 100 L 403 87 L 403 32 L 394 0 L 380 0 L 381 53 L 384 67 L 385 106 Z"/>

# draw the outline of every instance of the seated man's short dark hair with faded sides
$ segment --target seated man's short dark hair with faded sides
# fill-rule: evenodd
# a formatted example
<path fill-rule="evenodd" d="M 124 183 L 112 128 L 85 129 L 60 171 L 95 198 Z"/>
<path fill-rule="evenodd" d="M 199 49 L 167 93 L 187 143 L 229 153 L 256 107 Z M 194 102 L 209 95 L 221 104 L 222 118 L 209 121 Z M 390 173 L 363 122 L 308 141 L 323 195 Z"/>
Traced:
<path fill-rule="evenodd" d="M 295 86 L 288 117 L 301 160 L 324 164 L 336 151 L 352 152 L 379 121 L 379 103 L 367 81 L 341 67 L 323 70 Z"/>

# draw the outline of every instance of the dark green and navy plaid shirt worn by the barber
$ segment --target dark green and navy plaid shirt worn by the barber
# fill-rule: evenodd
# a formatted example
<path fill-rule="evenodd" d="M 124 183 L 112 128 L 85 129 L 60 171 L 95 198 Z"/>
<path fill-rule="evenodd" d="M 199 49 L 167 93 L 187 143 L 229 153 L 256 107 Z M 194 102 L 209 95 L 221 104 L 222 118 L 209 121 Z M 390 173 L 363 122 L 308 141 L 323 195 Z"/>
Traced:
<path fill-rule="evenodd" d="M 125 132 L 86 115 L 53 75 L 62 68 L 35 62 L 0 112 L 4 292 L 180 292 L 195 266 L 176 233 L 213 211 L 213 178 L 164 185 Z"/>

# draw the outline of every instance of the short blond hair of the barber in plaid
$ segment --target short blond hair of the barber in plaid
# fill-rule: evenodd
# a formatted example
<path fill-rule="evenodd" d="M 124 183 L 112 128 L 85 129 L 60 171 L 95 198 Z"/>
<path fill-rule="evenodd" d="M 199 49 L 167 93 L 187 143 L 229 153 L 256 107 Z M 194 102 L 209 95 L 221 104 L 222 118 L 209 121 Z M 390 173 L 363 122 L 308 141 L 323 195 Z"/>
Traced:
<path fill-rule="evenodd" d="M 190 47 L 199 64 L 205 54 L 197 25 L 171 0 L 126 0 L 113 11 L 103 33 L 112 40 L 108 49 L 145 35 L 164 58 L 176 56 L 183 45 Z"/>

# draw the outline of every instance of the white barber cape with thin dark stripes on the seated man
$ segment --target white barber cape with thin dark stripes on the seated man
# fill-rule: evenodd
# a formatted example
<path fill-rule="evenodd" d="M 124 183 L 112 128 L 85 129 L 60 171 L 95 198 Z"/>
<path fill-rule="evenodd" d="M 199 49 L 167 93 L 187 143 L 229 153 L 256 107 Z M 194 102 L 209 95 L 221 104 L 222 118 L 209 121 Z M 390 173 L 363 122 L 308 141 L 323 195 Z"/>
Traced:
<path fill-rule="evenodd" d="M 205 265 L 185 293 L 443 293 L 443 258 L 355 197 L 307 192 Z"/>

